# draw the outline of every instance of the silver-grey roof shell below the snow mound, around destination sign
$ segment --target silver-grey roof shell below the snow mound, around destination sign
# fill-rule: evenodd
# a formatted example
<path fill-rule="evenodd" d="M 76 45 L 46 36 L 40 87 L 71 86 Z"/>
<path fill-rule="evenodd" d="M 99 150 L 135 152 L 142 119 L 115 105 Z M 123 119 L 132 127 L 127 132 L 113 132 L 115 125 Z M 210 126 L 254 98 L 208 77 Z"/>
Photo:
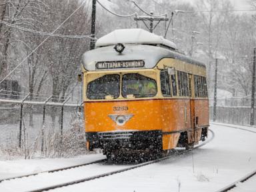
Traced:
<path fill-rule="evenodd" d="M 83 54 L 83 67 L 87 71 L 96 71 L 96 63 L 105 61 L 136 61 L 143 60 L 144 69 L 152 69 L 163 58 L 173 58 L 186 63 L 205 67 L 205 65 L 195 59 L 186 57 L 185 55 L 165 49 L 163 47 L 152 45 L 125 44 L 124 51 L 120 54 L 114 49 L 115 45 L 107 47 L 99 47 Z M 120 69 L 117 69 L 120 70 Z"/>

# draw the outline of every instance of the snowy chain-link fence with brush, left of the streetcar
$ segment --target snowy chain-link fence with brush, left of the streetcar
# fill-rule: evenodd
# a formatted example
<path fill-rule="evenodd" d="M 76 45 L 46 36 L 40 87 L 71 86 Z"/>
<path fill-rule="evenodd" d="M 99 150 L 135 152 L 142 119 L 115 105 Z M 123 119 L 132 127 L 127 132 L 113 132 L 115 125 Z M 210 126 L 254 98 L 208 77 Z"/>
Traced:
<path fill-rule="evenodd" d="M 14 95 L 1 90 L 1 153 L 32 158 L 85 152 L 83 107 L 68 101 L 69 97 Z"/>

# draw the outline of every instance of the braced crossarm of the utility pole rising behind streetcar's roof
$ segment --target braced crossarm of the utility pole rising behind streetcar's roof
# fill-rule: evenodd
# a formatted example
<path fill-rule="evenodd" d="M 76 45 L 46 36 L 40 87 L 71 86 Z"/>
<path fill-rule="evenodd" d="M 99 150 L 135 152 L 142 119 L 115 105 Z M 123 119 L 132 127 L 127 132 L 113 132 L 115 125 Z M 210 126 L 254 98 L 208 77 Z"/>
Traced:
<path fill-rule="evenodd" d="M 155 27 L 157 27 L 157 25 L 161 21 L 165 21 L 165 22 L 169 21 L 169 18 L 167 17 L 167 15 L 165 17 L 155 17 L 153 15 L 153 12 L 151 12 L 150 14 L 152 16 L 136 16 L 134 18 L 135 21 L 142 21 L 145 24 L 145 26 L 147 27 L 147 29 L 149 29 L 150 33 L 153 33 L 153 30 L 155 29 Z M 147 21 L 149 21 L 149 26 L 146 23 Z M 153 26 L 153 21 L 158 21 L 157 24 L 155 25 L 155 27 Z"/>

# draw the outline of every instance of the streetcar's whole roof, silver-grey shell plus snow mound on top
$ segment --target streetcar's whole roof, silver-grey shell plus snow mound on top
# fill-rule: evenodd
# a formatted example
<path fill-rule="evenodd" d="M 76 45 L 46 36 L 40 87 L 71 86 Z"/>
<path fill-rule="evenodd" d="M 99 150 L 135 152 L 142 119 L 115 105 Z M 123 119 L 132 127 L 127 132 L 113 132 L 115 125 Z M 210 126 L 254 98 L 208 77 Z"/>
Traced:
<path fill-rule="evenodd" d="M 113 49 L 117 43 L 125 44 L 121 54 Z M 152 69 L 163 58 L 178 59 L 205 67 L 205 64 L 180 53 L 173 42 L 143 29 L 115 30 L 98 39 L 96 46 L 97 49 L 87 51 L 82 56 L 83 67 L 87 71 L 98 70 L 96 65 L 99 62 L 111 61 L 144 61 L 143 68 Z"/>

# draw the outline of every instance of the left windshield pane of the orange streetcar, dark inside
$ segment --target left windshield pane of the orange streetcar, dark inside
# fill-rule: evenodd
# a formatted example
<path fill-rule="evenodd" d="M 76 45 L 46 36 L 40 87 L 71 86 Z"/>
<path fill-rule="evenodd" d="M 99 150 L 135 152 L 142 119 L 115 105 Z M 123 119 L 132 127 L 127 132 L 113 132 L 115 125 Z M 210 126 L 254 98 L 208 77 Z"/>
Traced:
<path fill-rule="evenodd" d="M 89 99 L 105 99 L 107 95 L 114 99 L 119 97 L 120 76 L 117 74 L 104 75 L 91 81 L 87 87 L 87 97 Z"/>

